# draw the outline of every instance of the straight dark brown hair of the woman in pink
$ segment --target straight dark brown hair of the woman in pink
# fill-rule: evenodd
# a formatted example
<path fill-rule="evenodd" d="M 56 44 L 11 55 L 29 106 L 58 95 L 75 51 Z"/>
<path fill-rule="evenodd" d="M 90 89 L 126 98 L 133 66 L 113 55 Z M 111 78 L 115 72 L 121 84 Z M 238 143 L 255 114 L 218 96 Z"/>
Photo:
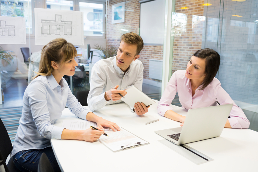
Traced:
<path fill-rule="evenodd" d="M 220 64 L 220 55 L 209 48 L 198 50 L 194 53 L 195 57 L 205 59 L 205 79 L 201 84 L 200 90 L 204 90 L 216 76 Z"/>

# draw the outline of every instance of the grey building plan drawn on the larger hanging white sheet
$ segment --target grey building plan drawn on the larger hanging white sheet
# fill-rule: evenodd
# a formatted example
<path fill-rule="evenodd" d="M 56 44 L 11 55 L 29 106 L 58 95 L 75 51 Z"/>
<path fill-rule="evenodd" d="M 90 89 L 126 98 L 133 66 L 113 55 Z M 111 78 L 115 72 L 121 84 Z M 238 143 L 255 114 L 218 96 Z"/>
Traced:
<path fill-rule="evenodd" d="M 62 15 L 55 15 L 55 20 L 41 20 L 42 34 L 72 35 L 72 21 L 63 21 Z"/>

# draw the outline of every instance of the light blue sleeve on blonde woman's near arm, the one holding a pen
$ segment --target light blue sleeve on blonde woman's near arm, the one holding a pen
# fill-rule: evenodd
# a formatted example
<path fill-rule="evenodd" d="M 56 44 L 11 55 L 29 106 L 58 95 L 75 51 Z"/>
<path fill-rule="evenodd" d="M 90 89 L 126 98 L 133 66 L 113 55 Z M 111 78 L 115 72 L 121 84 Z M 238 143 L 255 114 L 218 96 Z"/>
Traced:
<path fill-rule="evenodd" d="M 31 83 L 31 90 L 28 93 L 29 107 L 33 121 L 36 124 L 40 136 L 46 139 L 61 139 L 63 127 L 51 124 L 50 114 L 47 108 L 47 91 L 43 83 Z"/>

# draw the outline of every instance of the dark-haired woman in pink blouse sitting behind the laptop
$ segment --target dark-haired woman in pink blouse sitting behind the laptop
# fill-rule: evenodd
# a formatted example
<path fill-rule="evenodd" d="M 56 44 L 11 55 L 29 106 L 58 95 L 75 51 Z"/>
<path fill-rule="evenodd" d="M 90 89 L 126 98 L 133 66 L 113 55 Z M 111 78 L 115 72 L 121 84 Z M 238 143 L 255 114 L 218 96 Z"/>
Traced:
<path fill-rule="evenodd" d="M 209 48 L 198 50 L 189 60 L 186 70 L 174 72 L 160 99 L 157 111 L 160 115 L 182 122 L 186 117 L 177 114 L 170 107 L 176 93 L 182 107 L 189 110 L 219 104 L 233 104 L 225 128 L 249 128 L 246 115 L 229 94 L 221 87 L 215 75 L 220 64 L 219 54 Z"/>

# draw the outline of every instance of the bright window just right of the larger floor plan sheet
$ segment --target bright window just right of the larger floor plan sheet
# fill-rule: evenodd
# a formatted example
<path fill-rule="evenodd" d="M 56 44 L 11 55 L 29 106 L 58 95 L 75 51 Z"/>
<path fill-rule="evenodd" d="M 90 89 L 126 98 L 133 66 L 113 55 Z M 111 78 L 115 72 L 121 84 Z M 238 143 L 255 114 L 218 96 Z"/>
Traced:
<path fill-rule="evenodd" d="M 80 2 L 84 36 L 103 36 L 103 4 Z"/>

